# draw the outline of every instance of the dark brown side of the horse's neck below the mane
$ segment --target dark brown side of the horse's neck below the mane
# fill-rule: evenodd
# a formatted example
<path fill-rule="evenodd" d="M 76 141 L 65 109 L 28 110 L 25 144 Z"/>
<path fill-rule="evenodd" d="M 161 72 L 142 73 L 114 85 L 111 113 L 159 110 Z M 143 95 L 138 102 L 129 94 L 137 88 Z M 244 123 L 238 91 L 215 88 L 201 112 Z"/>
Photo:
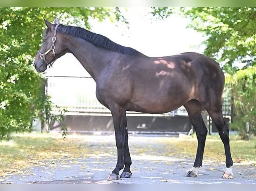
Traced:
<path fill-rule="evenodd" d="M 66 46 L 95 81 L 113 58 L 108 54 L 108 51 L 76 37 L 67 38 Z"/>

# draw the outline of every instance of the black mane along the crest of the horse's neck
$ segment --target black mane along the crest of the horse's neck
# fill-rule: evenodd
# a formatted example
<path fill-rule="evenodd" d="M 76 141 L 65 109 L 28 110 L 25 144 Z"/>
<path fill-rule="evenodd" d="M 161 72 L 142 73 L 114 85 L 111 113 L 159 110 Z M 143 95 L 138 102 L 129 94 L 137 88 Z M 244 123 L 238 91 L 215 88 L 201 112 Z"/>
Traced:
<path fill-rule="evenodd" d="M 87 40 L 98 47 L 105 48 L 113 52 L 118 52 L 118 53 L 128 54 L 128 55 L 142 54 L 133 48 L 119 45 L 103 35 L 93 33 L 81 27 L 66 26 L 66 25 L 60 24 L 57 28 L 57 32 L 62 34 L 72 35 L 74 37 Z"/>

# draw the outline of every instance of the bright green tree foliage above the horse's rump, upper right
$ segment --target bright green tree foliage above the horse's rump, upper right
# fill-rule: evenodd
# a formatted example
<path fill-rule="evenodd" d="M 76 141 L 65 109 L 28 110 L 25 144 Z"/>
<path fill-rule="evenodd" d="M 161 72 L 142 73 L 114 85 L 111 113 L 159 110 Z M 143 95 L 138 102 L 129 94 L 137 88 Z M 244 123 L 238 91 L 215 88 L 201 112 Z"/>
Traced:
<path fill-rule="evenodd" d="M 174 10 L 155 8 L 152 14 L 165 18 Z M 204 54 L 221 62 L 226 73 L 234 74 L 238 67 L 256 64 L 255 7 L 180 8 L 179 13 L 191 19 L 188 27 L 207 37 Z"/>

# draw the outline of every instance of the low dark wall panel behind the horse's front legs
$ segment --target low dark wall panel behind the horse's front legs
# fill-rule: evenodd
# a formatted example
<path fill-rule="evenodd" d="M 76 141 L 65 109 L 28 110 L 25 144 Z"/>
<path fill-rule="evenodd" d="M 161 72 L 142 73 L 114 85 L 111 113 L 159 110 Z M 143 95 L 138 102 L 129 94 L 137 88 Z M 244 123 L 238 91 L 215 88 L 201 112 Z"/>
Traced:
<path fill-rule="evenodd" d="M 62 123 L 54 123 L 50 129 L 59 129 L 66 124 L 72 131 L 114 131 L 112 116 L 67 115 Z M 129 131 L 188 132 L 191 128 L 187 116 L 127 116 Z"/>

